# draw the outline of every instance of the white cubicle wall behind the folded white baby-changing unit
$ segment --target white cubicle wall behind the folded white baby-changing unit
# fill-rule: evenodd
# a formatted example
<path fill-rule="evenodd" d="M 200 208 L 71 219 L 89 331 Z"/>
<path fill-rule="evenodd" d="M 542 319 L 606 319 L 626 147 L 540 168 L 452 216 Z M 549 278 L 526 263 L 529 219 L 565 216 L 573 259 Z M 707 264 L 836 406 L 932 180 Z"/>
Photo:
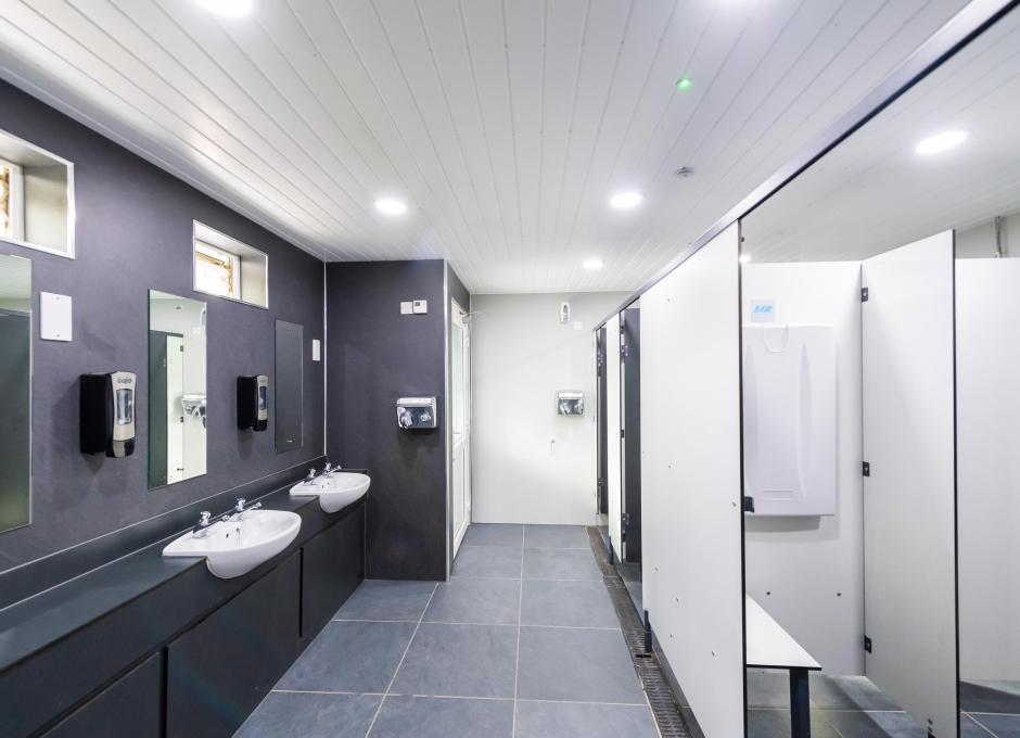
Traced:
<path fill-rule="evenodd" d="M 774 300 L 776 322 L 836 333 L 837 514 L 747 516 L 747 589 L 830 674 L 863 674 L 864 522 L 860 478 L 860 263 L 747 264 L 751 301 Z"/>

